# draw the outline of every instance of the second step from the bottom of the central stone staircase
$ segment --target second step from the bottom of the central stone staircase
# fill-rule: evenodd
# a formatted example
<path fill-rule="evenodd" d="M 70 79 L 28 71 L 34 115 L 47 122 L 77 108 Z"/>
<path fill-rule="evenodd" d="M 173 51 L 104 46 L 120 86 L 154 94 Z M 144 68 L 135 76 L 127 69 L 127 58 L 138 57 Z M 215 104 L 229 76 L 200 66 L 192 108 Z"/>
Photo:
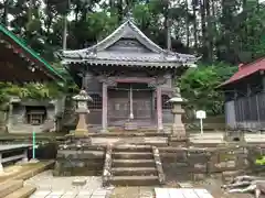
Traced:
<path fill-rule="evenodd" d="M 112 168 L 114 176 L 157 176 L 157 169 L 155 167 L 117 167 Z"/>

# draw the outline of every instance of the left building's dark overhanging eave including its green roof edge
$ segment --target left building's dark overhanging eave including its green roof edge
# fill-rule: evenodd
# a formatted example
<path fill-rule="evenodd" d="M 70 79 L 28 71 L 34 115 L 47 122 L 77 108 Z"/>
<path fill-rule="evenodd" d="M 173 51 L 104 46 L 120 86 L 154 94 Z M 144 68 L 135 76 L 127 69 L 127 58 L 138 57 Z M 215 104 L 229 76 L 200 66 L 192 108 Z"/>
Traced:
<path fill-rule="evenodd" d="M 59 72 L 2 24 L 0 24 L 0 81 L 64 81 Z"/>

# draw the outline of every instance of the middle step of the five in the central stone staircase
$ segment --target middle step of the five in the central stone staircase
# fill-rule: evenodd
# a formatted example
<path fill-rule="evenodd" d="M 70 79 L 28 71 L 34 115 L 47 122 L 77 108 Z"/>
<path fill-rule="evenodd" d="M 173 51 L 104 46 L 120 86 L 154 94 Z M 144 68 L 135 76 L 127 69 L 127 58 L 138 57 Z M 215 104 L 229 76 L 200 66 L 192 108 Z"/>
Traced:
<path fill-rule="evenodd" d="M 155 167 L 153 160 L 113 160 L 113 167 Z"/>

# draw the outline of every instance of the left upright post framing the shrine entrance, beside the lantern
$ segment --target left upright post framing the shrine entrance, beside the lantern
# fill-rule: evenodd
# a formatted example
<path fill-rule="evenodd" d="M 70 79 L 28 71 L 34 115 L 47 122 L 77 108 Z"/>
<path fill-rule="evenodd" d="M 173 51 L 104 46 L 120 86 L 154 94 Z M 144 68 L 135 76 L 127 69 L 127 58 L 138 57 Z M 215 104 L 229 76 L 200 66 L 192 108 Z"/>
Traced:
<path fill-rule="evenodd" d="M 102 132 L 107 132 L 107 128 L 108 128 L 107 112 L 108 112 L 107 84 L 103 81 Z"/>

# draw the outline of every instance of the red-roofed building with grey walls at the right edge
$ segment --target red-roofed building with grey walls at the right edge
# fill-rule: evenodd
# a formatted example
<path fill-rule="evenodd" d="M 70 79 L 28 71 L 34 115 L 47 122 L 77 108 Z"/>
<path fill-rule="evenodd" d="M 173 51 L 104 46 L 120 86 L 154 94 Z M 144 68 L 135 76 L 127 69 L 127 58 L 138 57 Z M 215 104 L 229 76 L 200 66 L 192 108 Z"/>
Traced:
<path fill-rule="evenodd" d="M 265 129 L 265 58 L 239 66 L 221 88 L 225 92 L 225 120 L 231 129 Z"/>

